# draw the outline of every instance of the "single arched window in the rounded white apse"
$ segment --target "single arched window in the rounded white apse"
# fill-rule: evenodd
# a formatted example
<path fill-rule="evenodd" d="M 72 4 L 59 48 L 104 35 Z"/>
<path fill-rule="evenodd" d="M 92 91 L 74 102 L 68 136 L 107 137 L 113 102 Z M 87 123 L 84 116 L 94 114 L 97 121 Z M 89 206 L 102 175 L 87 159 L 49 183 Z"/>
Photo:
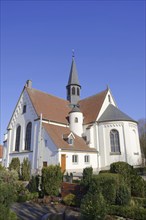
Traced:
<path fill-rule="evenodd" d="M 119 132 L 115 129 L 110 131 L 111 152 L 120 153 Z"/>

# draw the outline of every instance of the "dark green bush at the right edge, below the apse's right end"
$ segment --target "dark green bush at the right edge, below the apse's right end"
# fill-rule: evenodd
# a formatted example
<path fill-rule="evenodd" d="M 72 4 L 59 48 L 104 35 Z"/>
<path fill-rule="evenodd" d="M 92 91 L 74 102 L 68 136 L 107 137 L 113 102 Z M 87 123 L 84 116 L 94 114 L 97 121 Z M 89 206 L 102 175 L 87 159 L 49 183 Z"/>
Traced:
<path fill-rule="evenodd" d="M 141 176 L 131 175 L 131 195 L 145 197 L 145 184 Z"/>

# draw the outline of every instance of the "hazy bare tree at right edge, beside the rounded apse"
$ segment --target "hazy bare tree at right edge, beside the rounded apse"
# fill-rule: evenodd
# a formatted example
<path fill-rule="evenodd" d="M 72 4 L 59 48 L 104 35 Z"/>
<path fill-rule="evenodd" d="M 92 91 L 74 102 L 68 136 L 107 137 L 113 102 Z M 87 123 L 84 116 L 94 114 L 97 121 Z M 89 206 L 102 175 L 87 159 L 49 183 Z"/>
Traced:
<path fill-rule="evenodd" d="M 146 119 L 138 120 L 138 131 L 141 151 L 144 158 L 146 158 Z"/>

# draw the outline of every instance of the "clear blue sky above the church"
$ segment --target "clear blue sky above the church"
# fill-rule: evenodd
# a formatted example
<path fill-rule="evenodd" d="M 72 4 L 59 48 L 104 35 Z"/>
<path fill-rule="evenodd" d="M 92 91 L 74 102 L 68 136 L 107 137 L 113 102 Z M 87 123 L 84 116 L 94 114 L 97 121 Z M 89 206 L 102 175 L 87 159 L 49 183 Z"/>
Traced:
<path fill-rule="evenodd" d="M 3 134 L 27 79 L 66 98 L 72 49 L 81 98 L 109 85 L 118 107 L 145 115 L 145 1 L 1 0 Z"/>

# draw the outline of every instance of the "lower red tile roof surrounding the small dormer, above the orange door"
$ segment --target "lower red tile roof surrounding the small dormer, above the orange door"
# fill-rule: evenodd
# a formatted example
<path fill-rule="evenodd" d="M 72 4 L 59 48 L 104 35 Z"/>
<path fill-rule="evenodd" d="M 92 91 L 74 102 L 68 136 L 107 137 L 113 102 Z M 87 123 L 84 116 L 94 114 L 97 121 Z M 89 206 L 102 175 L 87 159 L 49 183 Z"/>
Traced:
<path fill-rule="evenodd" d="M 67 151 L 91 151 L 91 152 L 96 152 L 95 148 L 89 148 L 86 145 L 86 142 L 84 141 L 83 138 L 77 136 L 74 134 L 75 139 L 74 139 L 74 144 L 69 145 L 67 141 L 63 139 L 63 135 L 70 133 L 69 128 L 66 127 L 61 127 L 57 125 L 52 125 L 52 124 L 46 124 L 43 123 L 43 127 L 49 134 L 50 138 L 54 142 L 54 144 L 57 146 L 57 148 L 61 148 L 62 150 L 67 150 Z"/>

